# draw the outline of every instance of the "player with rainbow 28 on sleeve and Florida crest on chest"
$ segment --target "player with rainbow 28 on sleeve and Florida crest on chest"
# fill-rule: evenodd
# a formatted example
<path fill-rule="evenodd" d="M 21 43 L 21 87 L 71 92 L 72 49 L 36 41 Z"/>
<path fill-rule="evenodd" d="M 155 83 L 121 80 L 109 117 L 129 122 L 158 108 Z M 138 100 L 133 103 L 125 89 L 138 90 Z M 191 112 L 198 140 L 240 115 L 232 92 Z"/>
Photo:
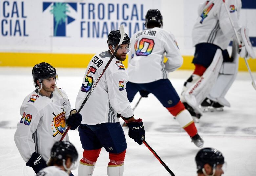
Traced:
<path fill-rule="evenodd" d="M 26 165 L 37 173 L 47 166 L 54 142 L 61 139 L 68 125 L 71 130 L 76 129 L 82 116 L 71 112 L 68 96 L 56 87 L 57 73 L 53 66 L 45 62 L 36 64 L 32 75 L 36 90 L 21 105 L 22 117 L 14 141 Z M 66 114 L 70 114 L 67 119 Z M 68 140 L 68 135 L 64 140 Z"/>

